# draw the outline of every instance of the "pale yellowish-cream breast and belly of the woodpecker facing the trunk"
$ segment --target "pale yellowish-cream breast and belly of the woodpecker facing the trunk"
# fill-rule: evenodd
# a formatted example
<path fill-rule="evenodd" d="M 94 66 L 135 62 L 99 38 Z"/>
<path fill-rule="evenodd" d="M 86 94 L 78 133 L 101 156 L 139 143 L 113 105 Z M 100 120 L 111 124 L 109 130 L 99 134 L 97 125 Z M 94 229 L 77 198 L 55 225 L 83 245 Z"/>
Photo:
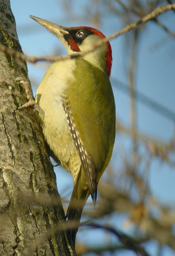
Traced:
<path fill-rule="evenodd" d="M 64 162 L 70 161 L 76 151 L 62 106 L 65 91 L 75 80 L 75 69 L 74 60 L 53 63 L 44 75 L 35 97 L 36 103 L 44 111 L 44 116 L 38 114 L 43 135 L 54 159 L 60 161 L 62 166 L 65 166 Z"/>

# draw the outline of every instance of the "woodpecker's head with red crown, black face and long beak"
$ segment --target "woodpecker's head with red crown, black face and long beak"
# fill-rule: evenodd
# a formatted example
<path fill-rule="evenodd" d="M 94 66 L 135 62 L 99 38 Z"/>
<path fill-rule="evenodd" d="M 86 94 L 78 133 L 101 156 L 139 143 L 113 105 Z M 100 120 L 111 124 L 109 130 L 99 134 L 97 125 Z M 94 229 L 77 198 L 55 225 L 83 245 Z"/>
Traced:
<path fill-rule="evenodd" d="M 32 15 L 30 15 L 30 18 L 55 34 L 69 54 L 87 50 L 94 46 L 99 40 L 105 38 L 105 35 L 95 28 L 83 26 L 66 28 Z M 109 42 L 102 44 L 100 47 L 96 48 L 95 51 L 86 54 L 82 58 L 97 66 L 110 76 L 112 49 Z"/>

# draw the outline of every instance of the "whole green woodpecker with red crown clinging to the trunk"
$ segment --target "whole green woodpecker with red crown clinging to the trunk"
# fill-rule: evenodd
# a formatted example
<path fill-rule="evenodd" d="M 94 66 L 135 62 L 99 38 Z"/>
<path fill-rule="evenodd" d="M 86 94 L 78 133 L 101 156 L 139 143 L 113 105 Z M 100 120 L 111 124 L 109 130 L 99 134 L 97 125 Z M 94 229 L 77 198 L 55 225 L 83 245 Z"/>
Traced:
<path fill-rule="evenodd" d="M 105 37 L 95 28 L 66 28 L 30 17 L 55 34 L 70 55 Z M 36 104 L 44 111 L 37 117 L 50 155 L 73 176 L 68 220 L 80 221 L 89 195 L 95 202 L 97 184 L 111 159 L 115 140 L 111 66 L 112 50 L 107 42 L 82 57 L 54 62 L 36 92 Z M 77 231 L 70 232 L 74 243 Z"/>

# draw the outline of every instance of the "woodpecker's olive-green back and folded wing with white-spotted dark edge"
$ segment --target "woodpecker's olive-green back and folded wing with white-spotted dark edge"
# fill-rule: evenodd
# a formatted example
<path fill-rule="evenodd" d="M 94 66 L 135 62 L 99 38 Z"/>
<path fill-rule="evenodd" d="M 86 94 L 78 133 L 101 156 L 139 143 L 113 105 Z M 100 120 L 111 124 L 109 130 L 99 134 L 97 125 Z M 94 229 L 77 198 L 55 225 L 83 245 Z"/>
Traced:
<path fill-rule="evenodd" d="M 91 195 L 112 155 L 115 102 L 108 76 L 82 58 L 76 59 L 77 80 L 71 83 L 64 109 L 75 139 Z M 68 81 L 69 82 L 69 81 Z"/>

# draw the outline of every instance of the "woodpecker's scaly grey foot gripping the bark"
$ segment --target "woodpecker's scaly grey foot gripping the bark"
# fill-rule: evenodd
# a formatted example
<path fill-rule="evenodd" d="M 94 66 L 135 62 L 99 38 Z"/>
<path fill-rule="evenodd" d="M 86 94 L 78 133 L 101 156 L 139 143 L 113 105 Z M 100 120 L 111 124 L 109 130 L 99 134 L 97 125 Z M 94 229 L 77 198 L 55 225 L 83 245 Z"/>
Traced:
<path fill-rule="evenodd" d="M 36 104 L 36 102 L 34 101 L 34 97 L 33 97 L 33 93 L 31 90 L 31 86 L 29 84 L 29 81 L 25 80 L 22 77 L 18 77 L 15 79 L 15 81 L 19 81 L 19 83 L 22 83 L 25 87 L 25 91 L 26 91 L 26 95 L 27 95 L 27 99 L 28 102 L 26 102 L 25 104 L 23 104 L 21 107 L 19 107 L 18 109 L 23 109 L 23 108 L 29 108 L 32 107 L 34 110 L 37 110 L 40 114 L 44 115 L 44 111 Z"/>

